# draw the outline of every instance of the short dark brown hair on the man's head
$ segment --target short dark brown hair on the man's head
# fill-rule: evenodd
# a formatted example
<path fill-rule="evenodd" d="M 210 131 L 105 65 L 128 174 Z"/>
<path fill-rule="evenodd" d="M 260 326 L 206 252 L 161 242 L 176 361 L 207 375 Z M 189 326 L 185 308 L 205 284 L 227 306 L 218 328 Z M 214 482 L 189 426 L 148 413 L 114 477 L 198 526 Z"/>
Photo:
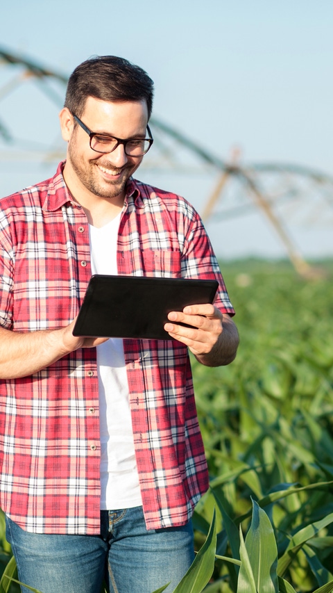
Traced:
<path fill-rule="evenodd" d="M 117 56 L 97 56 L 78 65 L 67 85 L 65 107 L 78 117 L 87 97 L 102 101 L 146 100 L 148 119 L 153 108 L 153 81 L 139 66 Z"/>

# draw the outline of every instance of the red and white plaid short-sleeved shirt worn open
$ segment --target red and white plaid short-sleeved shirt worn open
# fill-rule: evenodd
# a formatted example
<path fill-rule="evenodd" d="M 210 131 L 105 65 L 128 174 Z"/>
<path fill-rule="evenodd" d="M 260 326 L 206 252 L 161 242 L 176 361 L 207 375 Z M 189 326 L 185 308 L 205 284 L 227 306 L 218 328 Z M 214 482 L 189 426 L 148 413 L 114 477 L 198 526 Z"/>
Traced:
<path fill-rule="evenodd" d="M 14 332 L 73 320 L 91 276 L 88 222 L 56 175 L 0 202 L 0 324 Z M 119 227 L 119 274 L 216 278 L 202 222 L 181 197 L 130 179 Z M 135 455 L 146 526 L 177 526 L 207 490 L 187 348 L 124 340 Z M 96 349 L 34 375 L 0 381 L 0 506 L 35 533 L 100 530 Z"/>

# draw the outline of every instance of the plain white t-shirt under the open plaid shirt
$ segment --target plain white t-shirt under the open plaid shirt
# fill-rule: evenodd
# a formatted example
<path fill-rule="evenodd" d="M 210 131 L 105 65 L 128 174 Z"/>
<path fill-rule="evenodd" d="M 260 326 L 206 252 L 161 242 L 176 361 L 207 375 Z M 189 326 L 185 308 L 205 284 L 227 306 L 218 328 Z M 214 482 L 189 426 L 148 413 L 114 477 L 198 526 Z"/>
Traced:
<path fill-rule="evenodd" d="M 100 229 L 89 225 L 93 274 L 117 274 L 119 216 Z M 112 314 L 112 311 L 110 311 Z M 135 462 L 123 341 L 97 346 L 101 430 L 101 509 L 142 505 Z"/>

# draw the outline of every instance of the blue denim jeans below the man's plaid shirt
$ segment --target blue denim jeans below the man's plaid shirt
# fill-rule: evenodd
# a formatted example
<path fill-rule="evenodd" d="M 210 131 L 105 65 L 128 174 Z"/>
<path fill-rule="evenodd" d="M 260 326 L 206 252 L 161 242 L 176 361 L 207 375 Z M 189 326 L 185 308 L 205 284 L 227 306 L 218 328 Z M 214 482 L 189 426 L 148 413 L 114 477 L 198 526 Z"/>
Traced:
<path fill-rule="evenodd" d="M 28 533 L 6 517 L 19 580 L 42 593 L 171 593 L 194 560 L 193 529 L 146 530 L 142 507 L 101 511 L 101 535 Z M 22 593 L 29 593 L 22 587 Z"/>

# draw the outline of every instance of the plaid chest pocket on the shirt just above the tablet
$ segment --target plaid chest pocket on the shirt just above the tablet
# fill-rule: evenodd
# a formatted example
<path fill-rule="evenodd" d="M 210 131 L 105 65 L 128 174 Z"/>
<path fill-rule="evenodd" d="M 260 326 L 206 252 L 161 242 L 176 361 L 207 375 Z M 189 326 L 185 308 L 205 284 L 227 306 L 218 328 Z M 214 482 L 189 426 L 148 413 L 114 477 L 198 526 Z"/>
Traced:
<path fill-rule="evenodd" d="M 167 249 L 142 250 L 142 267 L 145 276 L 180 278 L 180 251 Z"/>

